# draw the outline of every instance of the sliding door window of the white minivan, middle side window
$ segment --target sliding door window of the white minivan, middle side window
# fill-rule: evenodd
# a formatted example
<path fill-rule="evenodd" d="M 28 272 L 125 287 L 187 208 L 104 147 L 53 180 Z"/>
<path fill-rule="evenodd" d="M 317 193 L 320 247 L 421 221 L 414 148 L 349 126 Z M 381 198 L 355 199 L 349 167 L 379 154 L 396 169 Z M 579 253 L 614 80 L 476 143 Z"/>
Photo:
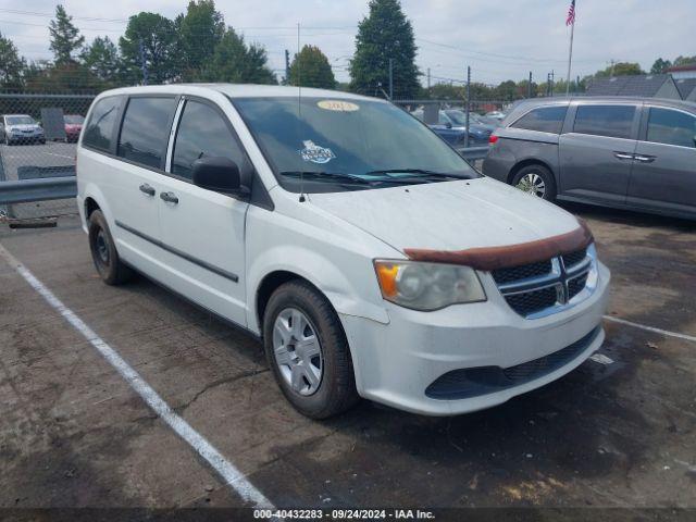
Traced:
<path fill-rule="evenodd" d="M 130 98 L 123 116 L 117 154 L 145 166 L 162 167 L 175 98 Z"/>

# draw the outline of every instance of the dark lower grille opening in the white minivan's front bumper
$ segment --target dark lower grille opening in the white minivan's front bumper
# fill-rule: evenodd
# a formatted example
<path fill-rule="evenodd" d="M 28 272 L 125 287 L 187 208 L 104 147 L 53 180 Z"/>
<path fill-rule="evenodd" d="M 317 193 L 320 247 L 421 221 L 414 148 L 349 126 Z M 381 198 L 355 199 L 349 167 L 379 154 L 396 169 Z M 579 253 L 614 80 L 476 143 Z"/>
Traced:
<path fill-rule="evenodd" d="M 468 399 L 535 381 L 575 360 L 592 345 L 600 330 L 597 326 L 583 338 L 561 350 L 514 366 L 452 370 L 436 378 L 425 389 L 425 395 L 439 400 Z"/>

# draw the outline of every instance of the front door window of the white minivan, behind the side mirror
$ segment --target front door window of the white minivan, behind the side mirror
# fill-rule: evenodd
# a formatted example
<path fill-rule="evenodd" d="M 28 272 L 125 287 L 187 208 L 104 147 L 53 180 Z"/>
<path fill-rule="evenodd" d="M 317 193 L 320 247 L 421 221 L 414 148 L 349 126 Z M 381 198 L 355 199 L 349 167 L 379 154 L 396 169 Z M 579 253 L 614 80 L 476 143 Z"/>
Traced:
<path fill-rule="evenodd" d="M 190 179 L 194 162 L 203 157 L 228 158 L 240 170 L 246 160 L 221 114 L 206 103 L 189 100 L 174 141 L 172 173 Z"/>

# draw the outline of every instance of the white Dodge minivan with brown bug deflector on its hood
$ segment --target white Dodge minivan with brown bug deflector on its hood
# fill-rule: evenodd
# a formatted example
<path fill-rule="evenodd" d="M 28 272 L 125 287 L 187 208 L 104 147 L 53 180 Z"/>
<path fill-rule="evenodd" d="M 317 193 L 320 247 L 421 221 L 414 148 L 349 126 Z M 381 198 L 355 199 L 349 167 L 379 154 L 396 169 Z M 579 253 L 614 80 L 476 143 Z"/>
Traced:
<path fill-rule="evenodd" d="M 137 271 L 262 339 L 312 418 L 359 397 L 488 408 L 604 340 L 609 271 L 586 225 L 482 176 L 384 100 L 110 90 L 87 115 L 77 185 L 105 283 Z"/>

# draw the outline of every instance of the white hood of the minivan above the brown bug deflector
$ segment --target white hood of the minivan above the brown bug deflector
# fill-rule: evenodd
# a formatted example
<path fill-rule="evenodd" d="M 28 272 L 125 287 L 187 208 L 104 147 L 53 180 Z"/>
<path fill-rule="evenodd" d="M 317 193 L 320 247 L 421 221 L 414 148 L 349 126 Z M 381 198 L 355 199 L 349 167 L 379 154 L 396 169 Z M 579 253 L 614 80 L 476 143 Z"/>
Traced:
<path fill-rule="evenodd" d="M 579 227 L 572 214 L 555 204 L 486 177 L 309 198 L 400 251 L 508 246 Z"/>

